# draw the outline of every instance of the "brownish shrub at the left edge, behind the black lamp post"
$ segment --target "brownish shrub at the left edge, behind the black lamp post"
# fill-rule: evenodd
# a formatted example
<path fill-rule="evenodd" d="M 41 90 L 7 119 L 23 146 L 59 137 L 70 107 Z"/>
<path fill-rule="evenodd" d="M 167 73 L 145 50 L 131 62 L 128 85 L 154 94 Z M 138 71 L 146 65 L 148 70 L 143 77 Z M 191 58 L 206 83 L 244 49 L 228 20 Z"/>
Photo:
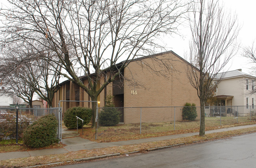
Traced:
<path fill-rule="evenodd" d="M 16 115 L 7 114 L 0 116 L 0 140 L 16 138 Z M 23 131 L 28 127 L 28 119 L 19 119 L 18 121 L 18 138 L 22 137 Z"/>

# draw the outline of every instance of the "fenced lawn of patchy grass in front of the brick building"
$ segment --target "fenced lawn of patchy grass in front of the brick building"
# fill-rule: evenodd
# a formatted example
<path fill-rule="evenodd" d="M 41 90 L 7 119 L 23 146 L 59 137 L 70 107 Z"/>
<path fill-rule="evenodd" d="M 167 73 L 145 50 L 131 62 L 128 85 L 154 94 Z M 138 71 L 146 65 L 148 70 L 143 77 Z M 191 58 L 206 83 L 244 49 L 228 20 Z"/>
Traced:
<path fill-rule="evenodd" d="M 256 121 L 250 121 L 248 117 L 221 117 L 221 125 L 219 117 L 206 117 L 205 130 L 215 130 L 220 128 L 229 128 L 234 126 L 256 124 Z M 132 139 L 143 139 L 150 137 L 159 137 L 165 135 L 174 135 L 181 133 L 198 132 L 200 128 L 200 121 L 176 121 L 175 130 L 174 122 L 151 122 L 141 124 L 119 124 L 117 126 L 100 127 L 98 128 L 97 140 L 95 140 L 95 129 L 91 129 L 90 125 L 78 130 L 80 137 L 96 142 L 115 142 L 127 141 Z"/>

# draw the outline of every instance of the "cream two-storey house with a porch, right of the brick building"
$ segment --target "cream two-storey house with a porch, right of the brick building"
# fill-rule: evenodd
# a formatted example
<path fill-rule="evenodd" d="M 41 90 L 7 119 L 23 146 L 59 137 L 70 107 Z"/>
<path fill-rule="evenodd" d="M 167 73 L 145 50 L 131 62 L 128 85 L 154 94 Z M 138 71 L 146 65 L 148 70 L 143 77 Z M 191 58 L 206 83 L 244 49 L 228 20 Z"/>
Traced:
<path fill-rule="evenodd" d="M 217 77 L 221 78 L 221 81 L 216 89 L 217 101 L 214 106 L 225 106 L 222 113 L 227 115 L 236 114 L 238 111 L 239 116 L 245 116 L 249 115 L 250 111 L 255 111 L 256 77 L 242 72 L 241 69 L 219 73 Z M 217 111 L 211 111 L 213 112 Z"/>

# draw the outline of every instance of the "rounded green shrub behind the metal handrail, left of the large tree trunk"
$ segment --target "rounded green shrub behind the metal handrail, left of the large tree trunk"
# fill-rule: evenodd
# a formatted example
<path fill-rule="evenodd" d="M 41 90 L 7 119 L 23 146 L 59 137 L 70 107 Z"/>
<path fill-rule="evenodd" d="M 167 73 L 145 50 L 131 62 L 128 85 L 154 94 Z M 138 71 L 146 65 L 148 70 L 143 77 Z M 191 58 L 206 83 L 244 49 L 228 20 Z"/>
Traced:
<path fill-rule="evenodd" d="M 73 107 L 69 108 L 64 113 L 64 124 L 68 129 L 76 128 L 76 116 L 83 120 L 86 125 L 91 121 L 92 110 L 91 108 Z M 78 128 L 82 128 L 82 121 L 78 119 Z"/>

